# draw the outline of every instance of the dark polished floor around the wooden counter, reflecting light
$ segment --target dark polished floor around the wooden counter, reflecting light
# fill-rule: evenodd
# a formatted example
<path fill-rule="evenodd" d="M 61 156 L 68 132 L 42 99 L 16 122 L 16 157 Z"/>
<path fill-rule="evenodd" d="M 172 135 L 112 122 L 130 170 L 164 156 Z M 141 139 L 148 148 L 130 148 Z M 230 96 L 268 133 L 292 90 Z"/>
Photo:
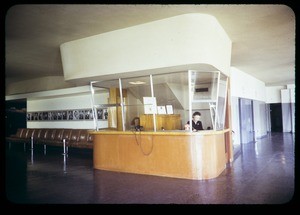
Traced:
<path fill-rule="evenodd" d="M 187 180 L 93 169 L 91 150 L 23 144 L 6 149 L 7 204 L 293 204 L 295 141 L 272 133 L 243 144 L 210 180 Z"/>

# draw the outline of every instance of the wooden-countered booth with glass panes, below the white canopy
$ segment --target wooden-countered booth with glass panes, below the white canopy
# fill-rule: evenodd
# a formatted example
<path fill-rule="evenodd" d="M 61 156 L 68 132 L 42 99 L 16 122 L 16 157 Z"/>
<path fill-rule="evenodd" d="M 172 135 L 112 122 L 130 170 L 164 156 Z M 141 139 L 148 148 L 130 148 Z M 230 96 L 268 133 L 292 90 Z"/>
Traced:
<path fill-rule="evenodd" d="M 94 168 L 184 179 L 218 177 L 233 159 L 228 77 L 188 70 L 90 83 Z M 106 103 L 95 100 L 106 90 Z M 97 125 L 107 109 L 108 127 Z M 195 111 L 204 130 L 184 129 Z"/>

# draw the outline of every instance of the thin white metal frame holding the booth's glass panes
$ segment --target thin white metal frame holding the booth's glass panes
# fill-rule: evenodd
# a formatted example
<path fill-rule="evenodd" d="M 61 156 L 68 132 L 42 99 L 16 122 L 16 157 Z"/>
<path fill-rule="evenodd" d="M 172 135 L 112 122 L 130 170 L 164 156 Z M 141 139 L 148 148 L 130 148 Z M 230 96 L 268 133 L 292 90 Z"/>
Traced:
<path fill-rule="evenodd" d="M 184 71 L 183 71 L 184 72 Z M 227 91 L 228 91 L 228 77 L 221 73 L 220 71 L 197 71 L 197 70 L 188 70 L 187 76 L 188 76 L 188 117 L 189 121 L 192 121 L 192 114 L 195 111 L 195 108 L 193 108 L 193 105 L 196 103 L 206 103 L 209 104 L 209 109 L 210 109 L 210 114 L 211 114 L 211 121 L 212 121 L 212 126 L 213 130 L 223 130 L 225 128 L 225 113 L 226 113 L 226 104 L 227 104 Z M 216 78 L 216 95 L 215 99 L 198 99 L 195 100 L 193 99 L 193 95 L 195 92 L 195 79 L 193 79 L 193 76 L 199 75 L 201 77 L 201 73 L 211 73 L 214 74 Z M 169 74 L 169 73 L 167 73 Z M 161 75 L 161 74 L 157 74 Z M 150 75 L 144 75 L 141 77 L 148 77 L 149 82 L 150 82 L 150 97 L 155 98 L 155 93 L 154 93 L 154 83 L 153 83 L 153 74 Z M 91 81 L 90 82 L 90 91 L 91 91 L 91 103 L 92 103 L 92 112 L 93 112 L 93 119 L 94 119 L 94 127 L 95 130 L 98 131 L 100 128 L 98 127 L 98 118 L 97 118 L 97 109 L 99 108 L 111 108 L 111 107 L 121 107 L 121 116 L 122 116 L 122 131 L 126 130 L 126 117 L 125 117 L 125 108 L 127 105 L 124 103 L 124 97 L 123 97 L 123 87 L 122 87 L 122 80 L 123 79 L 130 79 L 130 78 L 136 78 L 136 77 L 127 77 L 127 78 L 118 78 L 118 79 L 112 79 L 108 81 L 115 82 L 116 85 L 114 87 L 119 88 L 119 93 L 120 93 L 120 103 L 115 103 L 115 104 L 96 104 L 95 102 L 95 90 L 94 87 L 95 85 L 99 85 L 98 87 L 107 89 L 107 87 L 102 87 L 101 83 L 106 83 L 107 81 Z M 222 88 L 220 88 L 220 85 L 222 84 Z M 126 88 L 124 88 L 126 89 Z M 221 91 L 222 90 L 222 91 Z M 213 96 L 213 95 L 212 95 Z M 222 105 L 221 105 L 222 102 Z M 156 108 L 156 107 L 154 107 Z M 153 119 L 153 130 L 154 132 L 157 131 L 156 128 L 156 113 L 152 113 L 152 119 Z M 192 131 L 192 126 L 190 126 L 189 132 Z"/>

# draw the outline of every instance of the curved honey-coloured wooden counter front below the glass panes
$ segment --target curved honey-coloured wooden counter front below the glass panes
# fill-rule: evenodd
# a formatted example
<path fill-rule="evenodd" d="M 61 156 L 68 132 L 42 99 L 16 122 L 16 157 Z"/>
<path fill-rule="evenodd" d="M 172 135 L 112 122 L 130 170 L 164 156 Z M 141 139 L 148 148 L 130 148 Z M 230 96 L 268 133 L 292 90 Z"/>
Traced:
<path fill-rule="evenodd" d="M 229 129 L 91 133 L 99 170 L 200 180 L 219 176 L 232 160 Z"/>

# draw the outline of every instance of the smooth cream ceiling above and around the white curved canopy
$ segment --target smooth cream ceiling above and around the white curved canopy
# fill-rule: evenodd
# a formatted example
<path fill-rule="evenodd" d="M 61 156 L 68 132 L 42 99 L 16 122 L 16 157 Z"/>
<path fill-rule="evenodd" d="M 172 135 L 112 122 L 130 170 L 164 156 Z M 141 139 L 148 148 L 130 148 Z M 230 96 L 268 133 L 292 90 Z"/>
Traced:
<path fill-rule="evenodd" d="M 15 5 L 5 22 L 5 83 L 63 76 L 60 45 L 185 13 L 217 18 L 231 66 L 267 86 L 295 83 L 295 14 L 286 5 Z"/>

